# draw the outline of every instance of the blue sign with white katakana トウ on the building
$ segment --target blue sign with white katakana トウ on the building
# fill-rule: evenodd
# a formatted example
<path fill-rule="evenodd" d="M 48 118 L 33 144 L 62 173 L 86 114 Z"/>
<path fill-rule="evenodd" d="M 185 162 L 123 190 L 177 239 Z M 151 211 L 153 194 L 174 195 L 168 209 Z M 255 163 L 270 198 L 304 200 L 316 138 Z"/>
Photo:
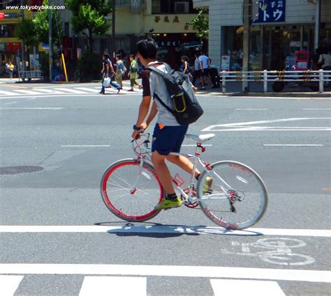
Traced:
<path fill-rule="evenodd" d="M 285 22 L 286 0 L 258 0 L 258 19 L 253 22 Z"/>

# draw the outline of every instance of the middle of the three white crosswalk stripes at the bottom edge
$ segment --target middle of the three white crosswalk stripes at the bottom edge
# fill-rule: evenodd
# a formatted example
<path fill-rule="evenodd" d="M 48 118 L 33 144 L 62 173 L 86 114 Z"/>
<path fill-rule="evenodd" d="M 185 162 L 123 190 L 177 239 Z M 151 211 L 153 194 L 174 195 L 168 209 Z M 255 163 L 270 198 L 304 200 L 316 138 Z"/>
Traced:
<path fill-rule="evenodd" d="M 80 296 L 146 296 L 147 278 L 133 276 L 85 276 Z"/>

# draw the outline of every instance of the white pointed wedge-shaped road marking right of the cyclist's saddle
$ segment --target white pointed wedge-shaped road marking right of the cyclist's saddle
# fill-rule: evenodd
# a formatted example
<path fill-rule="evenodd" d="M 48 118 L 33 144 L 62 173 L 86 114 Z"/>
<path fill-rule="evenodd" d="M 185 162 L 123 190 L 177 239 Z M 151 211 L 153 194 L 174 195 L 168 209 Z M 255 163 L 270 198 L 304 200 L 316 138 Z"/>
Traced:
<path fill-rule="evenodd" d="M 260 121 L 248 121 L 244 123 L 226 123 L 223 125 L 209 125 L 203 129 L 203 132 L 243 132 L 243 131 L 322 131 L 331 130 L 331 127 L 279 127 L 279 126 L 256 126 L 263 123 L 281 123 L 287 121 L 300 121 L 300 120 L 325 120 L 331 119 L 330 117 L 312 117 L 312 118 L 284 118 L 275 120 L 260 120 Z"/>

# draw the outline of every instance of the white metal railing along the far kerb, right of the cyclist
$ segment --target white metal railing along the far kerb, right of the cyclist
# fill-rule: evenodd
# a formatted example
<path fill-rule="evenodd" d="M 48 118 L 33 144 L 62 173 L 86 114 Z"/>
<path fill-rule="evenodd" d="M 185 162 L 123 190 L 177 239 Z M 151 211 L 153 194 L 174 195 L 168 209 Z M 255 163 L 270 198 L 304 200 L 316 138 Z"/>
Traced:
<path fill-rule="evenodd" d="M 302 82 L 307 84 L 311 89 L 323 93 L 324 84 L 331 84 L 331 70 L 316 70 L 316 71 L 221 71 L 221 82 L 223 93 L 226 93 L 228 82 L 263 82 L 263 91 L 267 92 L 269 81 L 279 82 L 285 86 L 286 82 Z"/>

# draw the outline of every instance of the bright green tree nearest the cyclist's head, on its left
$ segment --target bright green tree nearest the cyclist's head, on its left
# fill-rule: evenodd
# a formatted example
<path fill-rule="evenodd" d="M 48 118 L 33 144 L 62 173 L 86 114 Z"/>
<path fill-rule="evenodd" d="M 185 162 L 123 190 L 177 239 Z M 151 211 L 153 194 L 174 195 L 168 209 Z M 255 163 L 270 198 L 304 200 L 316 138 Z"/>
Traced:
<path fill-rule="evenodd" d="M 73 13 L 73 31 L 87 36 L 92 50 L 93 34 L 103 35 L 110 29 L 110 22 L 105 18 L 111 12 L 110 1 L 66 0 L 66 7 Z"/>

